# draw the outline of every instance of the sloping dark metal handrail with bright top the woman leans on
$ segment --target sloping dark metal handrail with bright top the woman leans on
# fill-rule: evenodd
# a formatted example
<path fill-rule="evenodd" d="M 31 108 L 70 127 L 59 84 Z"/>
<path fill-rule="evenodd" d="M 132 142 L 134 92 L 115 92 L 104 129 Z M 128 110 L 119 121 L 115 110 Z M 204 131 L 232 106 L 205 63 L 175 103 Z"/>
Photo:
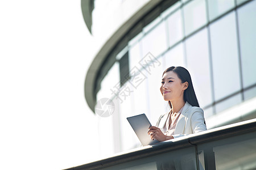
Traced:
<path fill-rule="evenodd" d="M 117 154 L 110 158 L 98 160 L 96 162 L 80 165 L 77 167 L 68 168 L 66 170 L 106 168 L 112 165 L 122 164 L 133 160 L 154 156 L 156 154 L 162 154 L 181 148 L 199 145 L 202 143 L 217 141 L 219 139 L 234 137 L 236 135 L 246 134 L 253 131 L 256 131 L 256 118 L 248 121 L 238 122 L 232 125 L 222 126 L 220 128 L 214 128 L 197 134 L 187 135 L 185 137 L 171 139 L 169 141 L 157 143 L 156 145 L 144 146 L 126 152 L 125 154 Z"/>

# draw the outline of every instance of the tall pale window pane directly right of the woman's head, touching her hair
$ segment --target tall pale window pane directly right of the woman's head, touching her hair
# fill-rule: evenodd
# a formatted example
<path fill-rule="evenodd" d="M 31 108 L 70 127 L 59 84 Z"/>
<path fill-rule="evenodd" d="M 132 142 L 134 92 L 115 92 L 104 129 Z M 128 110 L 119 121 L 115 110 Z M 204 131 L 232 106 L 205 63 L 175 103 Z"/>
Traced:
<path fill-rule="evenodd" d="M 186 41 L 188 70 L 201 107 L 212 103 L 207 29 Z"/>

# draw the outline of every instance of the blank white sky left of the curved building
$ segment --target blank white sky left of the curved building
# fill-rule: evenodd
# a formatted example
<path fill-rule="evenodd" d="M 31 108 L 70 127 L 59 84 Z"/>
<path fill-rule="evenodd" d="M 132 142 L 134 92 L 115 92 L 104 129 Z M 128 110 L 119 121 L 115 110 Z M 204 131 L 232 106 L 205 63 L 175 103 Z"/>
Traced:
<path fill-rule="evenodd" d="M 84 98 L 95 53 L 80 0 L 0 0 L 0 169 L 64 169 L 98 159 Z"/>

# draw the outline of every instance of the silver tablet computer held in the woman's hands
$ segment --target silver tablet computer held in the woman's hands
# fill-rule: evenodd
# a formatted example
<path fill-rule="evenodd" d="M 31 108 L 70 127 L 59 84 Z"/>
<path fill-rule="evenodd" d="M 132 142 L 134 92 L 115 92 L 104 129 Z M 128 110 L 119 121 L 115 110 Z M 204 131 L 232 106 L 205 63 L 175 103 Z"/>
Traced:
<path fill-rule="evenodd" d="M 151 126 L 151 124 L 146 114 L 143 113 L 137 116 L 127 117 L 127 120 L 139 138 L 139 141 L 141 141 L 142 146 L 153 145 L 154 143 L 159 142 L 156 139 L 152 140 L 150 135 L 147 134 L 148 128 Z"/>

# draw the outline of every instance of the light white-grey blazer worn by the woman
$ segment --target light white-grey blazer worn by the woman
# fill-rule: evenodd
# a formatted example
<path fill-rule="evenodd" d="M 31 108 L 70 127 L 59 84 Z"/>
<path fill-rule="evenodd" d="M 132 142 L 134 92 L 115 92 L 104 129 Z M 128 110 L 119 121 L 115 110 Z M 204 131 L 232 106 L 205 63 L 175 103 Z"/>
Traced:
<path fill-rule="evenodd" d="M 160 129 L 164 128 L 169 113 L 160 116 L 156 126 Z M 207 130 L 204 124 L 204 111 L 199 107 L 192 107 L 188 102 L 185 103 L 180 117 L 177 120 L 176 128 L 174 131 L 174 138 L 182 137 L 184 135 L 198 133 Z"/>

